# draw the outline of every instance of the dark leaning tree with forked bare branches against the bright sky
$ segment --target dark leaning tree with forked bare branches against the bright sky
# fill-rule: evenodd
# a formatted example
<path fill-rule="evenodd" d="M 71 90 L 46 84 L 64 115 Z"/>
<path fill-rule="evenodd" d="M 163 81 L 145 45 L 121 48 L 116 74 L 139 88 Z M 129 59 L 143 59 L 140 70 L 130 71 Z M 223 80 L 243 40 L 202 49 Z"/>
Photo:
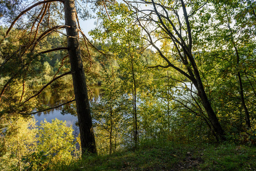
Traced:
<path fill-rule="evenodd" d="M 133 16 L 136 25 L 143 29 L 143 38 L 156 49 L 160 58 L 165 60 L 165 65 L 153 67 L 168 68 L 185 76 L 197 89 L 198 96 L 210 120 L 210 127 L 216 132 L 216 139 L 225 140 L 225 132 L 210 104 L 209 97 L 202 83 L 202 76 L 198 70 L 194 53 L 199 49 L 193 46 L 196 42 L 194 36 L 194 23 L 198 10 L 205 6 L 206 2 L 191 1 L 135 1 L 128 3 L 134 11 Z M 145 5 L 147 9 L 139 9 Z M 162 43 L 162 48 L 156 46 L 156 42 Z"/>

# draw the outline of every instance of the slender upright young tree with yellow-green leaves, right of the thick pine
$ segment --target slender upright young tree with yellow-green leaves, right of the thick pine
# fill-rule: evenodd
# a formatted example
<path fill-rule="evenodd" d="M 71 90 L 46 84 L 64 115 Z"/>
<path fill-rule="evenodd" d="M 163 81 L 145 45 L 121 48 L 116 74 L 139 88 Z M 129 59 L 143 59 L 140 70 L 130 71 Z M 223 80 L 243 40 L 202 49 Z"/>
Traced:
<path fill-rule="evenodd" d="M 138 94 L 151 82 L 148 70 L 145 70 L 144 40 L 141 39 L 140 28 L 133 25 L 131 11 L 124 4 L 108 5 L 108 14 L 99 14 L 101 28 L 95 28 L 91 35 L 100 42 L 108 41 L 103 50 L 112 56 L 117 63 L 117 72 L 123 82 L 122 93 L 127 93 L 132 100 L 133 141 L 139 142 Z M 103 44 L 103 43 L 102 43 Z"/>

